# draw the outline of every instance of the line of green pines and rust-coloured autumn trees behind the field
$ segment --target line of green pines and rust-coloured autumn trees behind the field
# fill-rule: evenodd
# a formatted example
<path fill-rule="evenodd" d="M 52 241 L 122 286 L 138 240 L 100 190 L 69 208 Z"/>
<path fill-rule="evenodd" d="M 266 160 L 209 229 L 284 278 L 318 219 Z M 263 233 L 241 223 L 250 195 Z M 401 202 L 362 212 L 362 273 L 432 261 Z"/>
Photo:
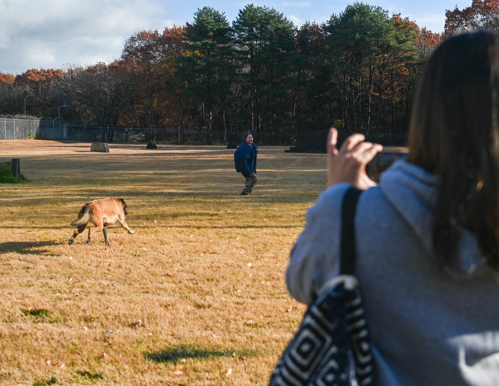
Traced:
<path fill-rule="evenodd" d="M 499 0 L 446 11 L 444 33 L 356 2 L 296 27 L 248 4 L 203 7 L 184 26 L 130 36 L 120 59 L 0 72 L 0 113 L 75 124 L 206 130 L 404 133 L 424 63 L 446 34 L 498 27 Z"/>

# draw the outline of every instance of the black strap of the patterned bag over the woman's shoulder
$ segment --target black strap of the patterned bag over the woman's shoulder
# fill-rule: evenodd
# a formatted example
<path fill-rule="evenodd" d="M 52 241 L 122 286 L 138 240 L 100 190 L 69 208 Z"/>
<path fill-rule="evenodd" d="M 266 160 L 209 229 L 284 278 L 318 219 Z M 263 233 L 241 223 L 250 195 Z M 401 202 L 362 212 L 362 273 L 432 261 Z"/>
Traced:
<path fill-rule="evenodd" d="M 355 267 L 355 209 L 363 190 L 350 187 L 343 197 L 341 208 L 340 274 L 353 275 Z"/>

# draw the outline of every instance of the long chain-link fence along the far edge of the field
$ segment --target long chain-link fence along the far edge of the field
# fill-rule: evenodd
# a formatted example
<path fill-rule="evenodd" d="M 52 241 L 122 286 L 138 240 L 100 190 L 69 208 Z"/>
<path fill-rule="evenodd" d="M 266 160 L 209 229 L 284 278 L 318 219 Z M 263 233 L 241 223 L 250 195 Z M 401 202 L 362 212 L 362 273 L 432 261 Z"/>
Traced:
<path fill-rule="evenodd" d="M 235 130 L 204 129 L 164 129 L 137 127 L 95 127 L 77 126 L 58 120 L 23 119 L 0 117 L 1 139 L 50 139 L 81 142 L 138 142 L 177 145 L 228 145 L 241 143 L 245 132 Z M 384 146 L 406 146 L 407 134 L 388 132 L 378 135 L 365 132 L 367 140 Z M 299 152 L 325 152 L 327 131 L 257 131 L 253 132 L 254 142 L 263 146 L 296 146 Z M 305 146 L 303 150 L 300 148 Z"/>

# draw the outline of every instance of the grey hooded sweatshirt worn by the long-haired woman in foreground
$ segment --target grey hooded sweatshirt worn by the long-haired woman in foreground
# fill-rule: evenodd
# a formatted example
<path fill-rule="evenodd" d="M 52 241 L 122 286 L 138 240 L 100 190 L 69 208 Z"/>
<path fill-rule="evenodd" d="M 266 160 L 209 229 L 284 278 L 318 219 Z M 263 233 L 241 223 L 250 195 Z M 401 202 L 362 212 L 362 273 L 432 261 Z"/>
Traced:
<path fill-rule="evenodd" d="M 397 161 L 357 204 L 357 261 L 373 340 L 376 385 L 499 385 L 499 285 L 465 232 L 460 270 L 432 252 L 437 179 Z M 291 251 L 286 285 L 310 304 L 339 273 L 345 183 L 324 191 Z"/>

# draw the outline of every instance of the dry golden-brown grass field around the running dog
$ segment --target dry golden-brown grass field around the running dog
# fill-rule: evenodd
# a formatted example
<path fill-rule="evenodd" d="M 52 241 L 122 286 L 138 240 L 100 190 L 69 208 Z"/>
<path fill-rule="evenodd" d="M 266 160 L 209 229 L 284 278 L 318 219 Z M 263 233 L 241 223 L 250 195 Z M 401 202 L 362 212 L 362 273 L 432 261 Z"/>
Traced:
<path fill-rule="evenodd" d="M 261 146 L 258 184 L 222 146 L 0 141 L 0 385 L 266 385 L 304 307 L 284 271 L 325 156 Z M 81 206 L 119 223 L 68 245 Z"/>

